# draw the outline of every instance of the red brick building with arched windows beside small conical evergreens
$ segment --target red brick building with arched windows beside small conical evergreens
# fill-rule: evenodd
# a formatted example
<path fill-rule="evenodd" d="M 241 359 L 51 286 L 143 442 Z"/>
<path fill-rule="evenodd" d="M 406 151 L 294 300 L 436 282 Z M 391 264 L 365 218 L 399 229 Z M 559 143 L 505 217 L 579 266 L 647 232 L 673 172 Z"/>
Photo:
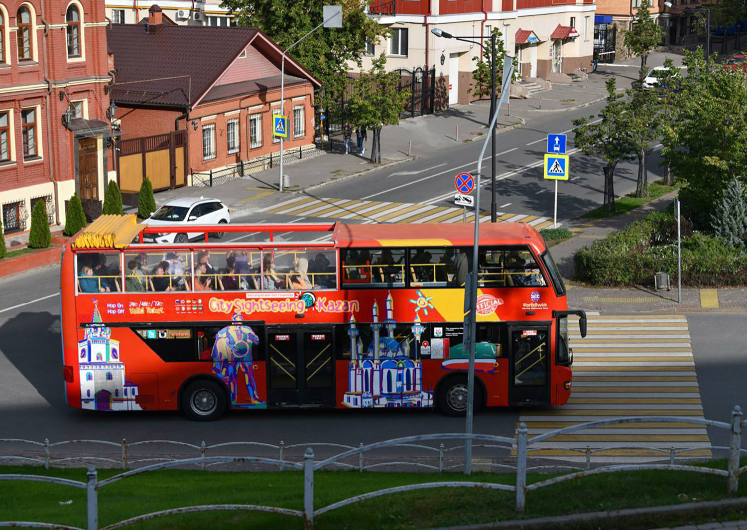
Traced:
<path fill-rule="evenodd" d="M 74 192 L 100 209 L 111 77 L 98 0 L 0 0 L 0 205 L 4 232 L 37 200 L 64 224 Z"/>

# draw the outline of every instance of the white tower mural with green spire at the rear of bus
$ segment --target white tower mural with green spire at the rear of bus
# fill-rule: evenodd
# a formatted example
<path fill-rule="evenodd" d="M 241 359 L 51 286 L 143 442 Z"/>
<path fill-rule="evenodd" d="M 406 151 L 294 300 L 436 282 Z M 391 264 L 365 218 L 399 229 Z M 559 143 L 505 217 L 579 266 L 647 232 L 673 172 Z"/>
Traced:
<path fill-rule="evenodd" d="M 81 408 L 92 410 L 142 410 L 135 402 L 137 385 L 125 377 L 120 359 L 120 341 L 111 339 L 111 328 L 103 324 L 99 304 L 93 301 L 93 326 L 78 342 Z"/>

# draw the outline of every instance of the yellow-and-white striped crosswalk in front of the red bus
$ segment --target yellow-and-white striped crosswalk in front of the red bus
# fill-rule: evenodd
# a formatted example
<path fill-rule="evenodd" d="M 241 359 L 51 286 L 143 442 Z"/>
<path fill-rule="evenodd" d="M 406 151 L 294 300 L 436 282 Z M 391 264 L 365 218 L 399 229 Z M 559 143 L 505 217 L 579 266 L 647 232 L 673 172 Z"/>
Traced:
<path fill-rule="evenodd" d="M 552 410 L 522 413 L 530 437 L 558 428 L 623 416 L 703 417 L 687 320 L 681 315 L 589 317 L 586 339 L 578 324 L 569 324 L 574 351 L 573 393 Z M 594 462 L 666 459 L 669 450 L 696 448 L 678 457 L 709 457 L 706 429 L 686 422 L 642 422 L 607 425 L 554 437 L 538 446 L 533 457 L 585 460 L 570 449 L 616 447 L 595 452 Z"/>

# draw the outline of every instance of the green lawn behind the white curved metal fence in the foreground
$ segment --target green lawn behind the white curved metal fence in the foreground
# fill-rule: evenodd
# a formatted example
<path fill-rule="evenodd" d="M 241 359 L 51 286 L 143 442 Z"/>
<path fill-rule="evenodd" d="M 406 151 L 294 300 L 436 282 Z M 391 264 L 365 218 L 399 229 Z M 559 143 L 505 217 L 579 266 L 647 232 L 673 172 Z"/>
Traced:
<path fill-rule="evenodd" d="M 704 464 L 725 469 L 725 460 Z M 56 475 L 85 481 L 84 469 L 44 469 L 5 466 L 3 473 Z M 116 474 L 102 469 L 99 479 Z M 530 475 L 528 482 L 550 475 Z M 320 508 L 384 487 L 430 481 L 463 481 L 457 473 L 317 472 L 314 502 Z M 512 474 L 476 473 L 473 481 L 512 484 Z M 0 490 L 0 520 L 85 525 L 85 490 L 39 482 L 3 481 Z M 642 471 L 597 475 L 542 488 L 527 495 L 524 518 L 586 511 L 676 505 L 692 500 L 716 500 L 725 496 L 726 478 L 687 472 Z M 740 483 L 747 495 L 747 478 Z M 70 504 L 61 504 L 72 500 Z M 514 493 L 494 490 L 438 489 L 371 499 L 320 516 L 318 529 L 414 529 L 489 523 L 517 518 Z M 303 475 L 300 472 L 216 472 L 164 470 L 144 473 L 99 490 L 99 525 L 189 505 L 255 504 L 302 509 Z M 689 516 L 692 519 L 692 516 Z M 727 516 L 728 517 L 728 516 Z M 710 520 L 710 519 L 709 519 Z M 672 517 L 672 522 L 679 522 Z M 656 524 L 626 529 L 667 526 Z M 676 526 L 676 525 L 672 525 Z M 164 517 L 140 523 L 135 529 L 301 529 L 300 519 L 259 512 L 207 512 Z"/>

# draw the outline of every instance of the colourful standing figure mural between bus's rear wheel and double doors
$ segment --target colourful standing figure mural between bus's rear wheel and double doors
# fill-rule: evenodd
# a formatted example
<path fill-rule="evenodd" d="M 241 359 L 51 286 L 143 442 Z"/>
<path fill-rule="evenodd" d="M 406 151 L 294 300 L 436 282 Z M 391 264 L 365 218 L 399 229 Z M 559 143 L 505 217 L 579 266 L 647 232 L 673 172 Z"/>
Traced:
<path fill-rule="evenodd" d="M 241 314 L 235 313 L 232 323 L 215 334 L 213 343 L 213 372 L 229 387 L 231 403 L 236 407 L 261 407 L 264 401 L 257 392 L 252 367 L 252 345 L 259 337 L 251 327 L 245 326 Z M 239 372 L 244 372 L 244 384 L 249 392 L 249 403 L 237 403 Z"/>

